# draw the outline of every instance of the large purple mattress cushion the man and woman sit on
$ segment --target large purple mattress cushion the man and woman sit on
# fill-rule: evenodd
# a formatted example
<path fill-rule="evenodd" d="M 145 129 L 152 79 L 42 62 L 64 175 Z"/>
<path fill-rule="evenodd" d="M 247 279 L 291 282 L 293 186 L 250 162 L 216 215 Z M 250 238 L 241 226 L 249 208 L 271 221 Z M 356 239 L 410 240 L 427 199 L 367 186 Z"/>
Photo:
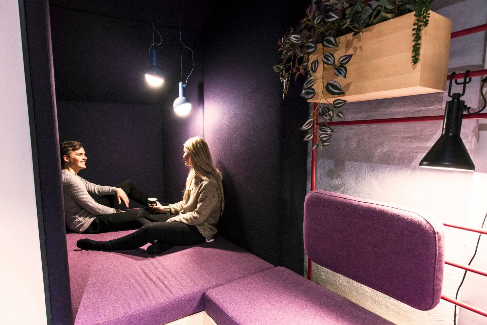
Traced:
<path fill-rule="evenodd" d="M 145 249 L 76 247 L 81 238 L 108 240 L 131 231 L 67 234 L 75 325 L 166 324 L 203 310 L 206 290 L 272 268 L 223 238 L 156 256 Z"/>

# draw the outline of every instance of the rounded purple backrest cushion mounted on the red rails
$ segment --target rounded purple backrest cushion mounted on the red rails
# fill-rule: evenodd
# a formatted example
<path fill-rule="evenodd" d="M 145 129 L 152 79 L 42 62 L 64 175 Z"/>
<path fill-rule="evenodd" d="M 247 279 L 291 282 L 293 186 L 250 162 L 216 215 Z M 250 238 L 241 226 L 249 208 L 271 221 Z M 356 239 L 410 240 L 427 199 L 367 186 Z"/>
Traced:
<path fill-rule="evenodd" d="M 387 203 L 312 191 L 304 250 L 313 262 L 420 310 L 440 301 L 443 226 Z"/>

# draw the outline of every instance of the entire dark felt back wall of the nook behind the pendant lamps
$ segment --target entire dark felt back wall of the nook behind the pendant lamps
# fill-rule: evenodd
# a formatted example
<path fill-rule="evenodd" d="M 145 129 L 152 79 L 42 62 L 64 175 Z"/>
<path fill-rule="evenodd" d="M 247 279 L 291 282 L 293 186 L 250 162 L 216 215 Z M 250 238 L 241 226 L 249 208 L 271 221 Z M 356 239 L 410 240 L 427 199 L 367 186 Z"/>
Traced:
<path fill-rule="evenodd" d="M 150 66 L 150 22 L 107 16 L 101 2 L 80 7 L 90 11 L 50 7 L 59 137 L 86 146 L 89 164 L 80 175 L 106 185 L 129 178 L 149 195 L 167 202 L 181 200 L 187 174 L 183 143 L 203 136 L 199 53 L 187 82 L 193 111 L 181 118 L 172 108 L 181 81 L 179 28 L 155 23 L 163 39 L 155 48 L 166 78 L 154 89 L 144 78 Z M 157 33 L 154 38 L 159 42 Z M 196 38 L 196 32 L 183 30 L 186 45 L 193 47 Z M 191 53 L 183 50 L 186 81 Z"/>

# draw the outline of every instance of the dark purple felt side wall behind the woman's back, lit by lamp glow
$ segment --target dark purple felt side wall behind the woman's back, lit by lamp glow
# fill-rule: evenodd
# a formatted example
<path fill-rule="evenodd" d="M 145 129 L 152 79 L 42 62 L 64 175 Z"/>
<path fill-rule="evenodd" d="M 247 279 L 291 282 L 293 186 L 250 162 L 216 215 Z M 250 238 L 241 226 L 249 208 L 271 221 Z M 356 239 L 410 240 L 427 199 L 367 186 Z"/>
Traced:
<path fill-rule="evenodd" d="M 282 100 L 277 40 L 308 3 L 219 1 L 202 38 L 205 138 L 223 172 L 220 233 L 262 259 L 302 273 L 306 102 Z M 232 13 L 231 15 L 228 13 Z"/>

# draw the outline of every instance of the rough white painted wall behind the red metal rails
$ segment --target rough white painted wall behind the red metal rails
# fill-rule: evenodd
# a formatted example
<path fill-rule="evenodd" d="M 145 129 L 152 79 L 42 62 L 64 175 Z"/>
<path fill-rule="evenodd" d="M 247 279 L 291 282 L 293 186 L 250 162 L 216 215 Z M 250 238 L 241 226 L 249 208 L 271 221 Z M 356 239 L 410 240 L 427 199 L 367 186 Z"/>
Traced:
<path fill-rule="evenodd" d="M 451 19 L 452 31 L 458 31 L 486 23 L 487 5 L 485 0 L 467 0 L 437 13 Z M 484 32 L 452 39 L 450 72 L 484 69 L 485 48 Z M 480 79 L 472 78 L 462 97 L 469 106 L 479 105 Z M 406 96 L 348 103 L 343 111 L 347 119 L 443 115 L 449 99 L 444 93 Z M 322 151 L 318 148 L 316 189 L 410 206 L 431 212 L 442 222 L 480 227 L 487 212 L 486 123 L 463 122 L 462 138 L 476 165 L 474 174 L 418 167 L 441 134 L 442 121 L 334 127 L 332 144 Z M 308 184 L 309 177 L 308 169 Z M 446 259 L 468 263 L 477 235 L 457 229 L 445 232 Z M 487 242 L 487 236 L 483 240 Z M 487 269 L 487 245 L 481 245 L 472 265 Z M 462 270 L 446 266 L 443 293 L 454 296 L 462 276 Z M 395 324 L 453 324 L 453 305 L 446 301 L 431 311 L 419 311 L 315 264 L 313 280 Z M 469 274 L 460 299 L 487 309 L 486 294 L 479 290 L 487 282 L 480 281 Z M 457 324 L 487 324 L 486 318 L 471 314 L 462 310 Z"/>

